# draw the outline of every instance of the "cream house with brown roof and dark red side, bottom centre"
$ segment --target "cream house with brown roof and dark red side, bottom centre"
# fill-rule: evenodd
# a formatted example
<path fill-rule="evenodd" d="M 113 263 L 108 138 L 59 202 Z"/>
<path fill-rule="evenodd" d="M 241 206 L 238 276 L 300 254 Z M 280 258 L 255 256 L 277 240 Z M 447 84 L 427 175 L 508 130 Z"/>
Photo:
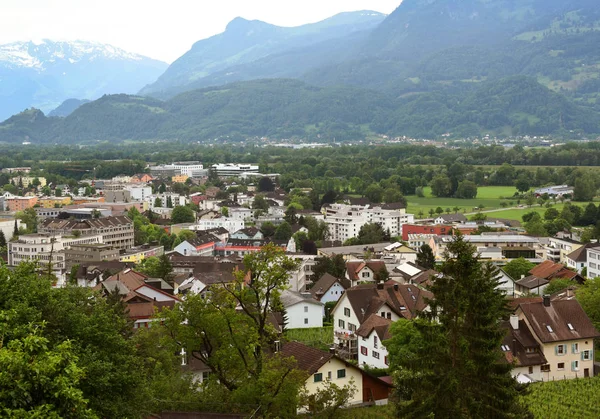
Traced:
<path fill-rule="evenodd" d="M 369 375 L 331 352 L 288 342 L 283 345 L 281 353 L 285 357 L 293 357 L 296 367 L 308 373 L 305 382 L 308 394 L 316 393 L 327 380 L 339 387 L 353 383 L 356 392 L 348 405 L 382 402 L 391 394 L 391 384 Z"/>

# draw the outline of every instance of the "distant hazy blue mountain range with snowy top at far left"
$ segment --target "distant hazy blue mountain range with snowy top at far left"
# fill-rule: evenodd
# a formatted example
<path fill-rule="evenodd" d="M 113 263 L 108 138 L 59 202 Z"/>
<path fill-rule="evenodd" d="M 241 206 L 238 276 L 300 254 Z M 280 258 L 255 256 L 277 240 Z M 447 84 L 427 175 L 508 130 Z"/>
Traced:
<path fill-rule="evenodd" d="M 70 98 L 136 93 L 167 67 L 110 45 L 83 41 L 0 45 L 0 120 L 32 106 L 51 111 Z"/>

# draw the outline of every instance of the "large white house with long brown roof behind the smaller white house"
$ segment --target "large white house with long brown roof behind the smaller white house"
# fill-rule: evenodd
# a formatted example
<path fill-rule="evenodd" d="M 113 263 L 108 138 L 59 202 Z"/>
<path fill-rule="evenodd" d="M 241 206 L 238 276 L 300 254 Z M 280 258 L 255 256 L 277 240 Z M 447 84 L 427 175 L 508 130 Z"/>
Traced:
<path fill-rule="evenodd" d="M 344 357 L 357 359 L 359 342 L 356 332 L 371 315 L 391 321 L 410 320 L 426 310 L 426 300 L 432 298 L 429 291 L 394 281 L 361 284 L 347 289 L 331 312 L 336 350 Z"/>

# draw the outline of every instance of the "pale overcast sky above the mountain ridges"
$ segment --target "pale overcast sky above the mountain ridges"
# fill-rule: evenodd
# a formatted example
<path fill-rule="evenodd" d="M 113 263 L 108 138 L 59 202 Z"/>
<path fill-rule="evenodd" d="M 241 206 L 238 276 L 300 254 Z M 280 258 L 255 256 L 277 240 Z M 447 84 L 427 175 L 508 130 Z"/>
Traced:
<path fill-rule="evenodd" d="M 84 40 L 172 62 L 241 16 L 280 26 L 336 13 L 391 13 L 401 0 L 0 0 L 0 44 Z"/>

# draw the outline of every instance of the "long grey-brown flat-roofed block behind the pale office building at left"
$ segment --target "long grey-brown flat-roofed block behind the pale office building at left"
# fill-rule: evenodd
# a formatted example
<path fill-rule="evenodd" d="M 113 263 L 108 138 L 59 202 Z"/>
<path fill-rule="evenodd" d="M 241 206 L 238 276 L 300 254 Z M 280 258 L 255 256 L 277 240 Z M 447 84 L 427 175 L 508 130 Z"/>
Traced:
<path fill-rule="evenodd" d="M 134 245 L 133 222 L 125 216 L 93 218 L 89 220 L 47 219 L 38 226 L 40 233 L 73 235 L 78 231 L 82 236 L 102 236 L 101 243 L 119 250 L 127 250 Z"/>

